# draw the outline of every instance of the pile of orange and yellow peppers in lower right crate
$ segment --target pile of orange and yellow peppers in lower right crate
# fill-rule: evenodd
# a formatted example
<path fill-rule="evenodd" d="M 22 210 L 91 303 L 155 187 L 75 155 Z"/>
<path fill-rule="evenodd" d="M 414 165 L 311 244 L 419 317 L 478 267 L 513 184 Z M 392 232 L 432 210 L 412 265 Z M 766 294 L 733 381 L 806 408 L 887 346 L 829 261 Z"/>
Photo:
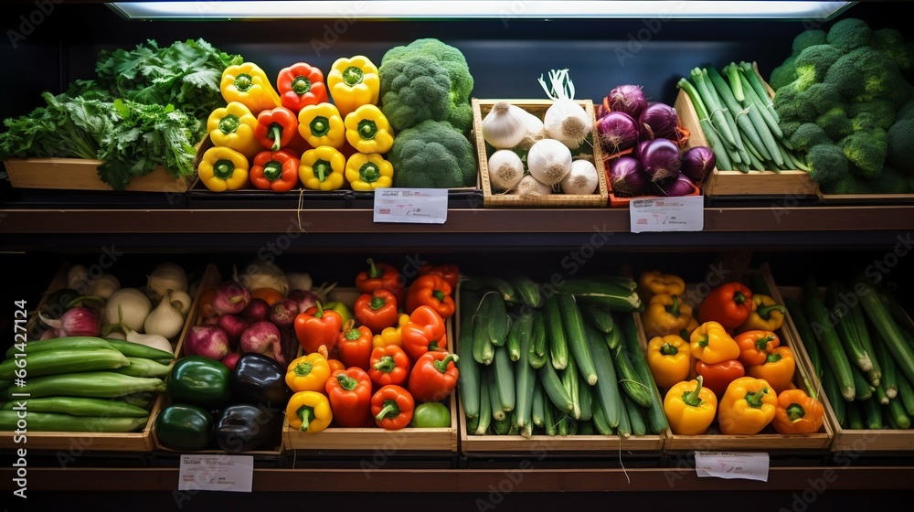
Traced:
<path fill-rule="evenodd" d="M 791 347 L 777 332 L 785 308 L 760 280 L 710 289 L 693 315 L 683 300 L 685 282 L 672 274 L 643 272 L 639 291 L 649 297 L 642 319 L 647 360 L 675 434 L 707 432 L 717 420 L 723 434 L 818 432 L 824 408 L 812 389 L 796 389 Z M 809 394 L 807 394 L 807 392 Z"/>

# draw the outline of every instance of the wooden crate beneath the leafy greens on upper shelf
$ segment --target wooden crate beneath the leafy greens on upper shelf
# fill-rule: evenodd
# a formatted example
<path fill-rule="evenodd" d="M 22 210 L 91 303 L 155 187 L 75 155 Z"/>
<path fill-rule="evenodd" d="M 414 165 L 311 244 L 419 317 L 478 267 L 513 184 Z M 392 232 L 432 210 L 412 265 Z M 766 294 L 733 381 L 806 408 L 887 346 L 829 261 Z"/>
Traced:
<path fill-rule="evenodd" d="M 14 188 L 112 190 L 99 177 L 98 166 L 102 163 L 82 158 L 21 158 L 6 160 L 4 165 Z M 190 176 L 176 178 L 159 165 L 152 173 L 131 179 L 124 190 L 182 193 L 190 187 L 191 181 Z"/>

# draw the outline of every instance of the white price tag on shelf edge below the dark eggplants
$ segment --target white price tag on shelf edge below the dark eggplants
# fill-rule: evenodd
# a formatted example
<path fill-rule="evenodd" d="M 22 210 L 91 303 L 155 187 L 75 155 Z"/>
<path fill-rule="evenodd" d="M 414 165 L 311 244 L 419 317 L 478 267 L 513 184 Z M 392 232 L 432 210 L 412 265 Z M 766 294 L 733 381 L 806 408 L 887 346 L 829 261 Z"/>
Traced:
<path fill-rule="evenodd" d="M 250 493 L 254 457 L 250 455 L 181 455 L 180 491 L 233 491 Z"/>

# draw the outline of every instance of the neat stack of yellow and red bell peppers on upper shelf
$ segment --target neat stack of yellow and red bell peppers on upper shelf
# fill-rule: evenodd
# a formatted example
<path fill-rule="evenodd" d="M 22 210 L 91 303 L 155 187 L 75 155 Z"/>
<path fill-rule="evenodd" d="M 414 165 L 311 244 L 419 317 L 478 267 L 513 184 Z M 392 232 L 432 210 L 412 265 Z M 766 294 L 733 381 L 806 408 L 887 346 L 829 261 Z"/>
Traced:
<path fill-rule="evenodd" d="M 229 66 L 221 80 L 228 104 L 207 119 L 213 146 L 197 165 L 201 181 L 216 192 L 390 187 L 384 154 L 393 130 L 377 107 L 379 83 L 362 55 L 336 59 L 326 80 L 296 62 L 280 70 L 275 88 L 253 62 Z"/>

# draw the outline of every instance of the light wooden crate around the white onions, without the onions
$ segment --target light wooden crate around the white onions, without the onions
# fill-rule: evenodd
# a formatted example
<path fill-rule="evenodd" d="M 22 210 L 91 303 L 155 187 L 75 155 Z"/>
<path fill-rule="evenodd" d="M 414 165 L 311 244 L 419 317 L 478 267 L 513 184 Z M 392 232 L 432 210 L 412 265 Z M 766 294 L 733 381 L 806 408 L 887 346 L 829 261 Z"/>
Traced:
<path fill-rule="evenodd" d="M 483 188 L 483 206 L 484 208 L 500 207 L 557 207 L 557 208 L 576 208 L 576 207 L 605 207 L 609 197 L 609 190 L 606 186 L 606 169 L 603 165 L 603 153 L 600 144 L 591 144 L 593 148 L 593 165 L 597 168 L 598 187 L 597 192 L 593 194 L 550 194 L 545 197 L 520 197 L 517 194 L 494 192 L 489 179 L 489 155 L 494 153 L 494 149 L 485 143 L 483 139 L 483 118 L 485 114 L 492 110 L 495 103 L 499 101 L 508 101 L 518 107 L 523 108 L 526 112 L 537 115 L 540 119 L 548 110 L 551 100 L 480 100 L 473 98 L 473 142 L 476 145 L 476 157 L 479 160 L 479 181 Z M 594 117 L 593 102 L 590 100 L 578 101 L 584 107 L 587 115 L 596 124 Z M 592 140 L 592 135 L 588 141 Z M 583 144 L 589 144 L 585 142 Z"/>

